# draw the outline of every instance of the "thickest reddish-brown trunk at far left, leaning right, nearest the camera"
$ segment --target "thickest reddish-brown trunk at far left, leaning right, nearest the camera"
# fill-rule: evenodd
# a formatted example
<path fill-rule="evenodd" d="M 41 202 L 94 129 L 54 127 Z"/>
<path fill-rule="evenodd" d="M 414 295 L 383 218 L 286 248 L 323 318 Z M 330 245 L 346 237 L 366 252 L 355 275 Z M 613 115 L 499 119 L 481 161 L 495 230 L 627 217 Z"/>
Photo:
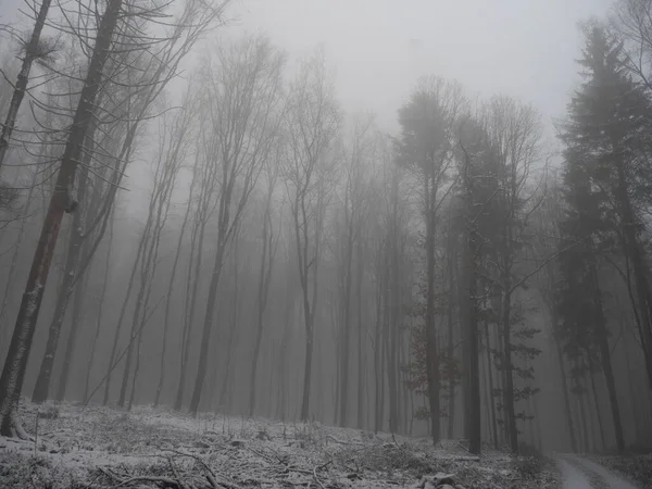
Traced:
<path fill-rule="evenodd" d="M 0 434 L 3 436 L 25 437 L 17 416 L 17 402 L 23 387 L 27 359 L 32 350 L 32 341 L 36 329 L 38 312 L 43 298 L 50 263 L 54 253 L 57 238 L 64 212 L 75 210 L 71 196 L 74 188 L 75 173 L 83 151 L 89 123 L 93 117 L 95 102 L 102 84 L 103 67 L 111 48 L 111 40 L 122 0 L 109 0 L 106 10 L 100 22 L 96 46 L 88 66 L 79 103 L 68 131 L 68 139 L 63 152 L 61 167 L 57 177 L 54 191 L 46 215 L 38 241 L 27 285 L 18 310 L 9 352 L 0 377 Z"/>

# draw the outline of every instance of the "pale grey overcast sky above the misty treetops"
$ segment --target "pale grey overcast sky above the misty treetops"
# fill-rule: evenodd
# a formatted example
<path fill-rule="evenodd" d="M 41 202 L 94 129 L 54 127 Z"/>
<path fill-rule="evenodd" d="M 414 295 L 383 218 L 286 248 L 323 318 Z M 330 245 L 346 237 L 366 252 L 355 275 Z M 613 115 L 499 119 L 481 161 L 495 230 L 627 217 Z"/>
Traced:
<path fill-rule="evenodd" d="M 577 83 L 577 22 L 610 0 L 240 0 L 239 27 L 266 32 L 292 54 L 323 42 L 348 111 L 372 110 L 394 130 L 422 74 L 472 92 L 534 103 L 563 115 Z M 234 29 L 238 28 L 236 26 Z"/>

